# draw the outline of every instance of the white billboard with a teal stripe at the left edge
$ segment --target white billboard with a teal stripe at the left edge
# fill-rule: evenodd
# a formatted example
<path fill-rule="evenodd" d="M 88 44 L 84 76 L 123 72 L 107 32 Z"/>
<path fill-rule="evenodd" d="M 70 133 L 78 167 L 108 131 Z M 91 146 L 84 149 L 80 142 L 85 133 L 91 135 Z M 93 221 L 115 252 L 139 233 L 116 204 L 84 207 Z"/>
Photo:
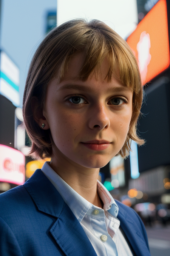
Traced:
<path fill-rule="evenodd" d="M 9 99 L 15 107 L 20 105 L 19 99 L 19 68 L 6 55 L 0 52 L 0 94 Z"/>

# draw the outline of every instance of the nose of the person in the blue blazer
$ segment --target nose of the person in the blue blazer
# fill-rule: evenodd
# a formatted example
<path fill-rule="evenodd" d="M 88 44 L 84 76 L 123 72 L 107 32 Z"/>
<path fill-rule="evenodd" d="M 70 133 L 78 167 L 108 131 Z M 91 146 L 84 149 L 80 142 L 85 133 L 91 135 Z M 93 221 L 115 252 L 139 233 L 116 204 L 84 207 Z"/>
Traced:
<path fill-rule="evenodd" d="M 90 110 L 89 127 L 90 129 L 103 130 L 110 126 L 107 107 L 104 104 L 93 106 Z"/>

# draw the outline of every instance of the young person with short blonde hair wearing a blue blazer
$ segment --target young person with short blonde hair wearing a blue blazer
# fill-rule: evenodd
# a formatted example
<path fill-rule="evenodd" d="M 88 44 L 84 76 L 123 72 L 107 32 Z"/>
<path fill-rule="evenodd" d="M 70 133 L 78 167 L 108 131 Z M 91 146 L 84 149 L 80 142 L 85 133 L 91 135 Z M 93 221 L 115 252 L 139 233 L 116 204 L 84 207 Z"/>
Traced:
<path fill-rule="evenodd" d="M 150 256 L 138 215 L 97 181 L 136 135 L 142 85 L 127 43 L 99 20 L 51 31 L 31 62 L 23 97 L 30 155 L 51 157 L 0 195 L 2 256 Z"/>

